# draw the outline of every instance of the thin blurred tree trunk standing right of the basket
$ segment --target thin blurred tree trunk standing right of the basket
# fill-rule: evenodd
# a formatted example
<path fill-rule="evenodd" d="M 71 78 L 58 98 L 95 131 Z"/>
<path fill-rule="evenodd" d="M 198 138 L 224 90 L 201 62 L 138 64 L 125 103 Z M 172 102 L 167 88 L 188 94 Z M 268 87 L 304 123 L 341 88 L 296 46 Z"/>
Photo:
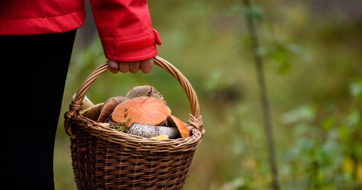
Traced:
<path fill-rule="evenodd" d="M 275 164 L 275 151 L 274 151 L 274 140 L 273 140 L 273 131 L 271 128 L 270 122 L 270 113 L 269 113 L 269 103 L 268 97 L 266 96 L 266 88 L 265 88 L 265 77 L 263 72 L 263 64 L 260 55 L 256 53 L 258 48 L 258 38 L 255 31 L 255 26 L 252 20 L 252 12 L 251 12 L 251 5 L 249 0 L 243 0 L 244 6 L 247 10 L 246 13 L 246 20 L 249 30 L 249 35 L 252 39 L 252 50 L 254 55 L 254 61 L 256 65 L 256 70 L 258 74 L 258 83 L 260 87 L 260 94 L 261 94 L 261 104 L 263 108 L 263 117 L 264 117 L 264 126 L 265 126 L 265 135 L 268 143 L 268 151 L 269 151 L 269 164 L 270 170 L 273 177 L 273 189 L 279 190 L 279 183 L 278 183 L 278 170 L 277 165 Z"/>

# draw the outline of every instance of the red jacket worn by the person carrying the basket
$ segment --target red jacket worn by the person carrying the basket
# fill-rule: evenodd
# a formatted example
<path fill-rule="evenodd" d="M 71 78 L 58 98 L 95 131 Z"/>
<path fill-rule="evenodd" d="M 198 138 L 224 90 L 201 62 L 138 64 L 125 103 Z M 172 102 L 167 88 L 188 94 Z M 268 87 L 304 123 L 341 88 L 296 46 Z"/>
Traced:
<path fill-rule="evenodd" d="M 157 55 L 146 0 L 90 0 L 109 60 L 136 61 Z M 0 35 L 61 33 L 84 24 L 85 0 L 0 0 Z"/>

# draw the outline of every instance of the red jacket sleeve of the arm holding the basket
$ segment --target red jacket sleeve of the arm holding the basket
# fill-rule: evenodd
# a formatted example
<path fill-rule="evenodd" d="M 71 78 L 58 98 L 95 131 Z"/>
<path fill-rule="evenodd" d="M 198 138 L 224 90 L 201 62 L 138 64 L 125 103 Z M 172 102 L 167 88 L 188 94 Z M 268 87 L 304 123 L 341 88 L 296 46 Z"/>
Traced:
<path fill-rule="evenodd" d="M 157 55 L 160 37 L 146 0 L 90 0 L 107 59 L 129 62 Z"/>

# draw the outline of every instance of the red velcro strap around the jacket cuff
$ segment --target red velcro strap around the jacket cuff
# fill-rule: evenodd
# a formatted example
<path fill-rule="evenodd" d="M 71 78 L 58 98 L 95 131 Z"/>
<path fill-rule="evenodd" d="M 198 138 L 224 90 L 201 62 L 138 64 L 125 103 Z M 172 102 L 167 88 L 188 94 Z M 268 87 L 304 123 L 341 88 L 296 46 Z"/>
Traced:
<path fill-rule="evenodd" d="M 153 34 L 150 34 L 143 38 L 132 39 L 125 42 L 119 42 L 119 53 L 124 54 L 132 51 L 143 50 L 153 45 L 161 45 L 161 40 L 158 32 L 153 29 Z"/>

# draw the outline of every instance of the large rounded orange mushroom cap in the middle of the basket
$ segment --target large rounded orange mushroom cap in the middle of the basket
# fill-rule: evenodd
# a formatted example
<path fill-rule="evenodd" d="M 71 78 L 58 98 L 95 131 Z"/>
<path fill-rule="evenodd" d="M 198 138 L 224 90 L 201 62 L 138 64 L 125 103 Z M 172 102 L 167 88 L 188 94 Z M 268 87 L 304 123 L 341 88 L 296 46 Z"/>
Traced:
<path fill-rule="evenodd" d="M 134 122 L 157 125 L 170 115 L 170 108 L 160 100 L 153 97 L 136 97 L 118 104 L 112 113 L 112 120 L 126 121 L 127 126 Z"/>

